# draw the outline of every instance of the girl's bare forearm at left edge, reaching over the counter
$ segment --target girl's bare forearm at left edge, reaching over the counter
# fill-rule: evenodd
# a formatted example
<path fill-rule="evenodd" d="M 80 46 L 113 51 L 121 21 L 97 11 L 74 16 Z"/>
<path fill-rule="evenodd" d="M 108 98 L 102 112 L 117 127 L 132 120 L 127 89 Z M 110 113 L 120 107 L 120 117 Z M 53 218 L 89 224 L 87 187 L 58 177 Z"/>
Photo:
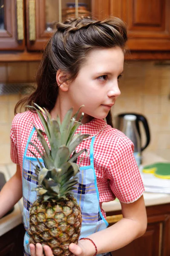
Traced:
<path fill-rule="evenodd" d="M 17 165 L 17 172 L 3 186 L 0 192 L 0 218 L 6 214 L 22 197 L 22 177 L 20 166 Z"/>

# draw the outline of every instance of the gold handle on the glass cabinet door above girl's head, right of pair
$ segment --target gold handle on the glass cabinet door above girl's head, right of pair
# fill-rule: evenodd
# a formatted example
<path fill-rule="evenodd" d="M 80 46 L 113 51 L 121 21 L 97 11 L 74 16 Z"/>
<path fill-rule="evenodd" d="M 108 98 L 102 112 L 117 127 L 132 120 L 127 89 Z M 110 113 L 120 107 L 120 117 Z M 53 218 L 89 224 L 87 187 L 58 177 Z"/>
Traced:
<path fill-rule="evenodd" d="M 35 0 L 29 0 L 29 41 L 35 39 Z"/>

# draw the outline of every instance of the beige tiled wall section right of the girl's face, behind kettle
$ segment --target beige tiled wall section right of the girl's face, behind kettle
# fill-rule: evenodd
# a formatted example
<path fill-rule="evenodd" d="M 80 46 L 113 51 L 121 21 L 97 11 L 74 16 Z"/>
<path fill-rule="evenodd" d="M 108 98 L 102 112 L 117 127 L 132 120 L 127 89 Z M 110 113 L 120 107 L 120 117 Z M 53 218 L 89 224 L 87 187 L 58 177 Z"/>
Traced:
<path fill-rule="evenodd" d="M 114 116 L 126 112 L 143 114 L 151 134 L 150 145 L 145 150 L 170 160 L 170 65 L 130 61 L 125 64 L 120 90 Z M 144 136 L 142 139 L 144 145 Z"/>

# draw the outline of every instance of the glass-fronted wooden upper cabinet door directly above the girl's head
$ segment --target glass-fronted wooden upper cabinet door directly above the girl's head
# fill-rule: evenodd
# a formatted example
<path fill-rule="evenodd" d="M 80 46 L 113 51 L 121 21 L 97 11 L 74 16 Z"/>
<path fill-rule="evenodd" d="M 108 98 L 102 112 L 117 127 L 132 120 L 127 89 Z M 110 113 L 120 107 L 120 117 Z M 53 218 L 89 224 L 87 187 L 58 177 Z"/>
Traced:
<path fill-rule="evenodd" d="M 109 0 L 26 0 L 27 49 L 43 50 L 55 32 L 55 21 L 69 17 L 104 18 L 109 14 Z"/>

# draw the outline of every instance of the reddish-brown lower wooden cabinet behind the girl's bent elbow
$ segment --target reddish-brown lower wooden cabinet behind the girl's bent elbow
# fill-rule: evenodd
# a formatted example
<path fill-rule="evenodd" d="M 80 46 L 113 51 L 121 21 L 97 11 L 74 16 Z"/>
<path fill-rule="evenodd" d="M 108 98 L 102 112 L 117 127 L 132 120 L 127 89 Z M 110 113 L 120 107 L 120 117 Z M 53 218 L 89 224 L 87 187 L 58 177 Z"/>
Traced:
<path fill-rule="evenodd" d="M 108 220 L 116 221 L 117 214 L 108 212 Z M 120 218 L 120 215 L 117 220 Z M 113 256 L 170 256 L 170 204 L 147 207 L 147 231 L 127 246 L 112 252 Z M 109 224 L 111 225 L 111 223 Z"/>

